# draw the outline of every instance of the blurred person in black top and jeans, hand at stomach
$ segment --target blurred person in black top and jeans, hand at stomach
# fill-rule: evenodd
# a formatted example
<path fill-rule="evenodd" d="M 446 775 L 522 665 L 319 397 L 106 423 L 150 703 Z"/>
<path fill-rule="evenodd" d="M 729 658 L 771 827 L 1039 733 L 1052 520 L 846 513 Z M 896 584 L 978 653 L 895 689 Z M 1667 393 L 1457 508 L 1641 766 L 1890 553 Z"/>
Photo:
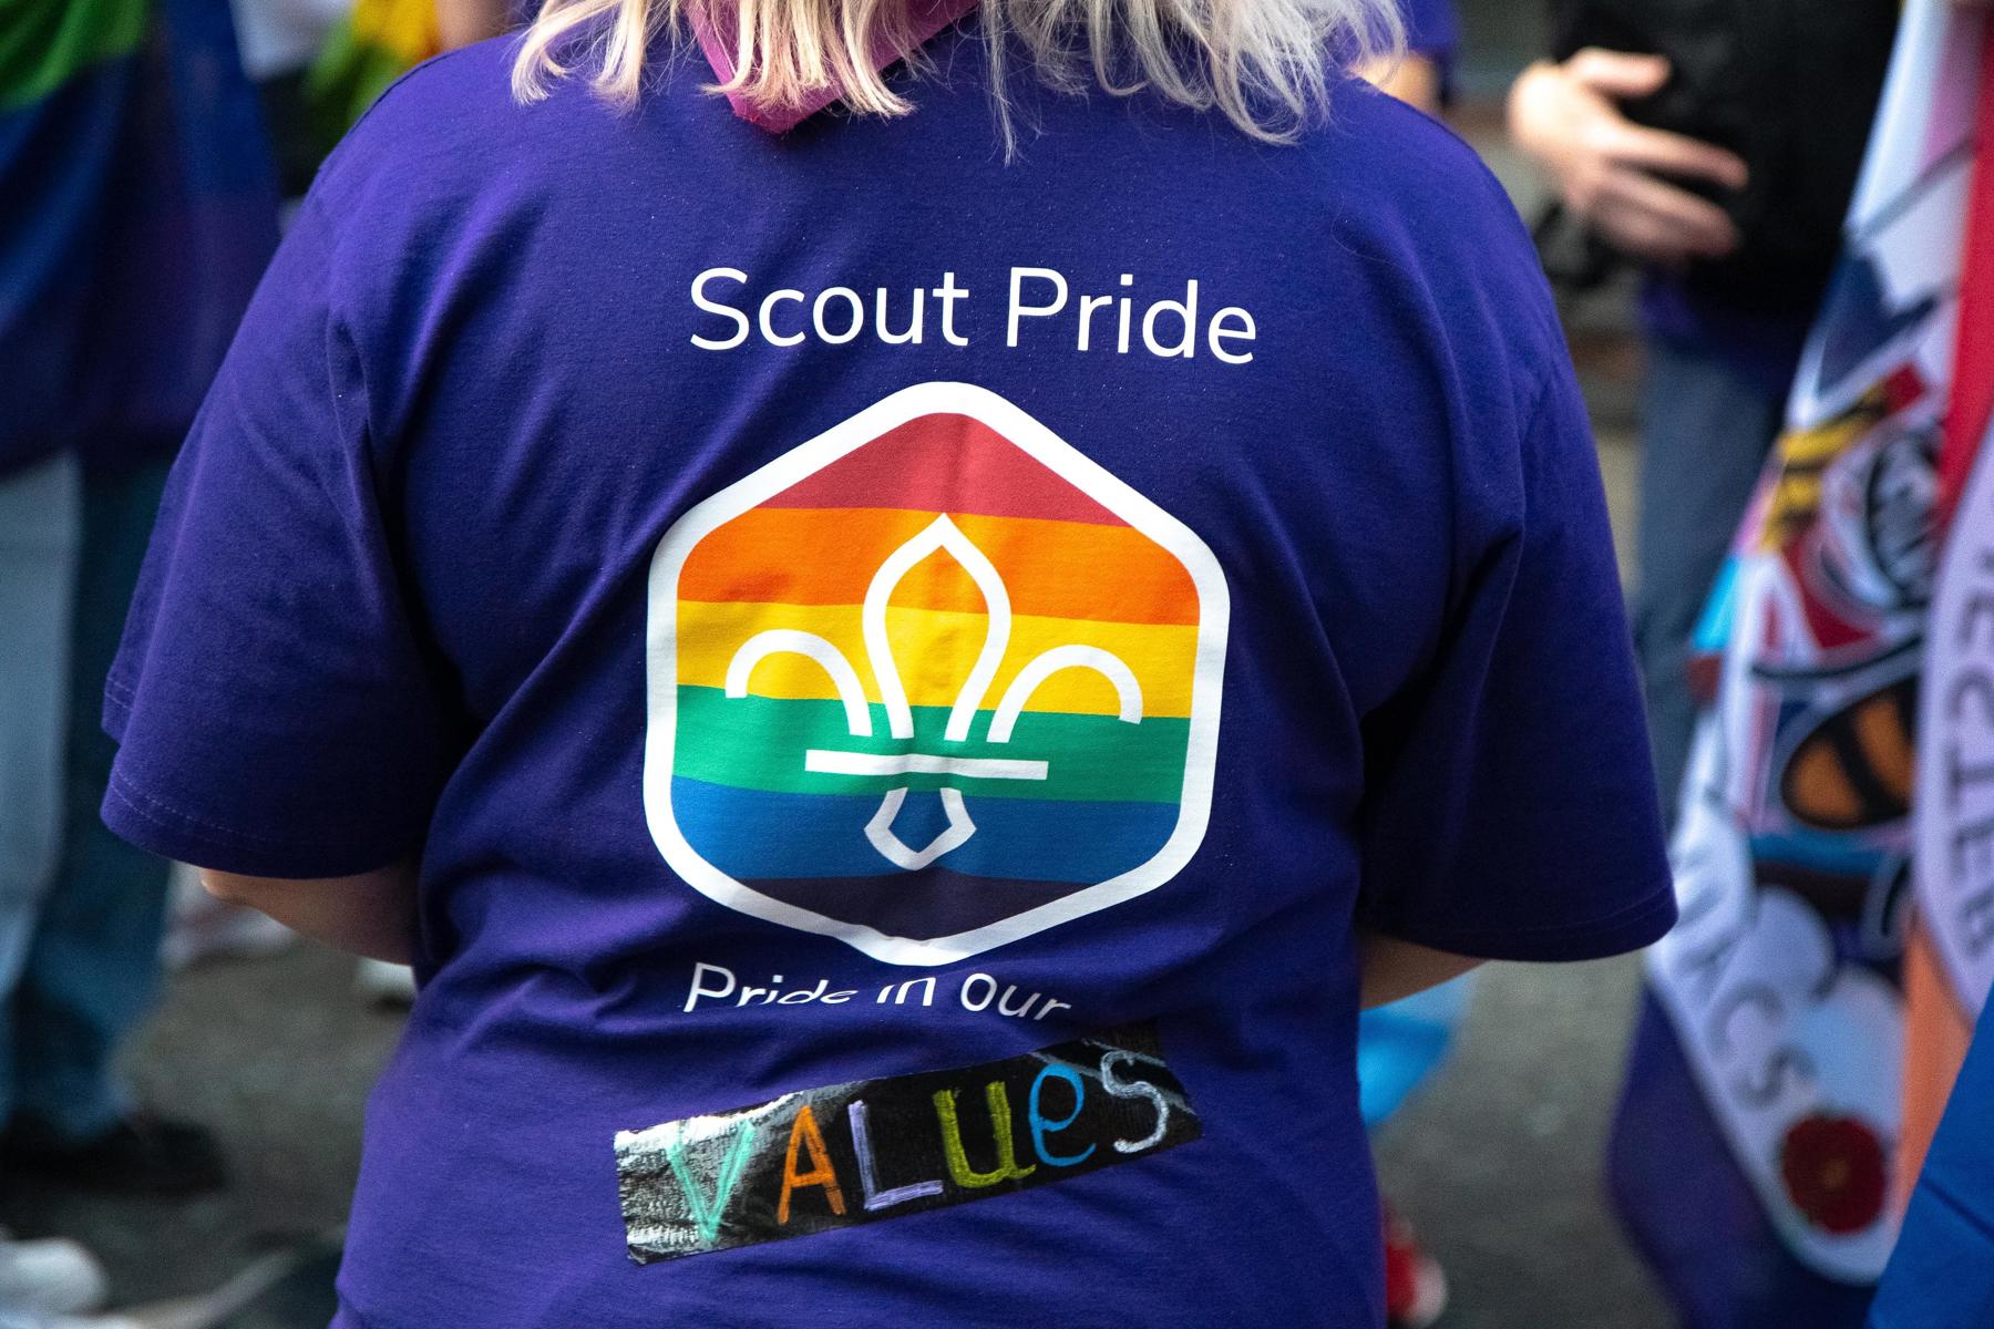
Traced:
<path fill-rule="evenodd" d="M 1691 638 L 1785 416 L 1840 249 L 1896 0 L 1555 0 L 1509 132 L 1559 201 L 1645 271 L 1635 642 L 1675 807 Z"/>

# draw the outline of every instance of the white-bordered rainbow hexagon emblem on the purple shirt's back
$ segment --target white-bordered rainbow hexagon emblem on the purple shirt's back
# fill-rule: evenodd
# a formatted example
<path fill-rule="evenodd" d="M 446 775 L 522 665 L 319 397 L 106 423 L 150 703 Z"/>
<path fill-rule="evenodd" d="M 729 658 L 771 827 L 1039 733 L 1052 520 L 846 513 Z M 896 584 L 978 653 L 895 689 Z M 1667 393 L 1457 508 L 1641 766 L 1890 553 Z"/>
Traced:
<path fill-rule="evenodd" d="M 981 389 L 907 389 L 660 546 L 654 835 L 897 962 L 1113 905 L 1204 833 L 1224 626 L 1174 518 Z"/>

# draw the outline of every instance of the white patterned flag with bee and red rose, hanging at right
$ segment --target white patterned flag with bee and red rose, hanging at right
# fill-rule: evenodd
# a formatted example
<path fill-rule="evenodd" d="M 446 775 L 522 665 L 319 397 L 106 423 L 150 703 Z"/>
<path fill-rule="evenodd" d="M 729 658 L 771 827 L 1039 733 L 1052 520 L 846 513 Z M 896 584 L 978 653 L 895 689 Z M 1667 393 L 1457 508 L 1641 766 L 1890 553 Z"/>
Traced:
<path fill-rule="evenodd" d="M 1896 1239 L 1912 723 L 1982 20 L 1904 10 L 1779 440 L 1705 624 L 1683 919 L 1611 1180 L 1685 1323 L 1858 1325 Z"/>

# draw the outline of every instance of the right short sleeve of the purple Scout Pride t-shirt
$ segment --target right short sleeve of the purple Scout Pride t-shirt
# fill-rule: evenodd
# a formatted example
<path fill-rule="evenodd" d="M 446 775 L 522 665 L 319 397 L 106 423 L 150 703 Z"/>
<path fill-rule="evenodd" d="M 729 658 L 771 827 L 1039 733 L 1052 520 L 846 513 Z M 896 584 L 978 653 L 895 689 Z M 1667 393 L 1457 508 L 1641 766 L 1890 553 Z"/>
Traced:
<path fill-rule="evenodd" d="M 1448 624 L 1364 721 L 1360 921 L 1484 958 L 1617 954 L 1675 921 L 1599 464 L 1555 359 L 1519 446 L 1460 462 Z"/>

